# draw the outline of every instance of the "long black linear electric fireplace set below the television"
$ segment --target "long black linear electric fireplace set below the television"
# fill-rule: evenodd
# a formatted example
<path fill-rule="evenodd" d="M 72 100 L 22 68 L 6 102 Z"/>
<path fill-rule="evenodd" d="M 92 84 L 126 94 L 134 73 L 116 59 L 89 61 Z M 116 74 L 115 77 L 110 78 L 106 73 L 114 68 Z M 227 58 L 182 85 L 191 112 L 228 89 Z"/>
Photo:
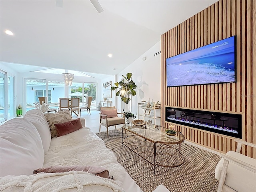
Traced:
<path fill-rule="evenodd" d="M 210 132 L 242 138 L 242 115 L 165 107 L 165 120 Z"/>

